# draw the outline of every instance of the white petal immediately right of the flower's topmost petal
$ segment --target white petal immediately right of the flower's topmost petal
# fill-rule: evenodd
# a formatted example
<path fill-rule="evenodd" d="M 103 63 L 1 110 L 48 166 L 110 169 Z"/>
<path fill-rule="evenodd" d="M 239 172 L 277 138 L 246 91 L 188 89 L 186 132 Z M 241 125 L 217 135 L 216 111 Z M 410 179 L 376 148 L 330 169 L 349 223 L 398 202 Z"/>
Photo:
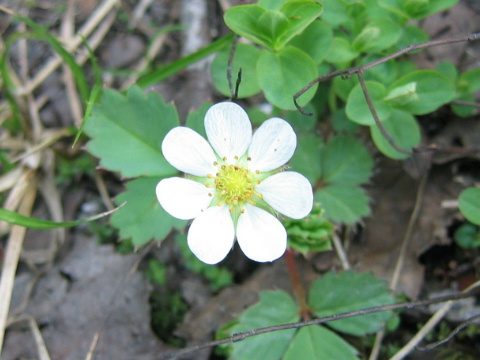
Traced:
<path fill-rule="evenodd" d="M 296 146 L 297 136 L 289 123 L 280 118 L 268 119 L 253 134 L 248 167 L 252 171 L 278 169 L 290 160 Z"/>

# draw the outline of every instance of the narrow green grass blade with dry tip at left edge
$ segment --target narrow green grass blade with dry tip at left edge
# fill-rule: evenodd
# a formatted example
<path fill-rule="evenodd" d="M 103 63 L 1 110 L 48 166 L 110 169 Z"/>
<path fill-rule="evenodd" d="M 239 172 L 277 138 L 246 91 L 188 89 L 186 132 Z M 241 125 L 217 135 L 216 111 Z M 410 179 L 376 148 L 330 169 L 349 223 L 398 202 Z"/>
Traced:
<path fill-rule="evenodd" d="M 0 208 L 0 220 L 5 221 L 12 225 L 24 226 L 29 229 L 38 229 L 38 230 L 50 230 L 50 229 L 59 229 L 77 226 L 84 224 L 86 222 L 98 220 L 104 216 L 112 214 L 114 211 L 117 211 L 119 208 L 116 208 L 112 211 L 107 211 L 105 213 L 91 216 L 86 219 L 76 220 L 76 221 L 65 221 L 65 222 L 55 222 L 37 219 L 25 215 L 21 215 L 15 211 L 10 211 L 7 209 Z"/>

